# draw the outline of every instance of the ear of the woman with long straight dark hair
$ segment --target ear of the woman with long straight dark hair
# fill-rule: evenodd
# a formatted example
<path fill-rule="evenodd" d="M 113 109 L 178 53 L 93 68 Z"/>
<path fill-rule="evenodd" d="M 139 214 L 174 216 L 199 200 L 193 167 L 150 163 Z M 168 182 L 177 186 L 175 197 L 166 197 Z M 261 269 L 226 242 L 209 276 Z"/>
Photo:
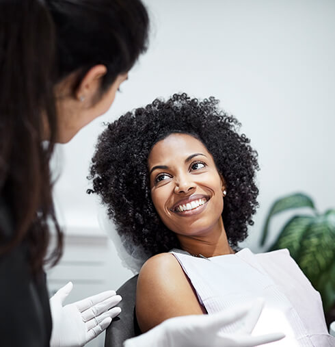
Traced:
<path fill-rule="evenodd" d="M 107 67 L 103 64 L 95 65 L 81 79 L 79 86 L 75 90 L 77 100 L 84 101 L 94 99 L 100 88 L 101 78 L 107 73 Z"/>

